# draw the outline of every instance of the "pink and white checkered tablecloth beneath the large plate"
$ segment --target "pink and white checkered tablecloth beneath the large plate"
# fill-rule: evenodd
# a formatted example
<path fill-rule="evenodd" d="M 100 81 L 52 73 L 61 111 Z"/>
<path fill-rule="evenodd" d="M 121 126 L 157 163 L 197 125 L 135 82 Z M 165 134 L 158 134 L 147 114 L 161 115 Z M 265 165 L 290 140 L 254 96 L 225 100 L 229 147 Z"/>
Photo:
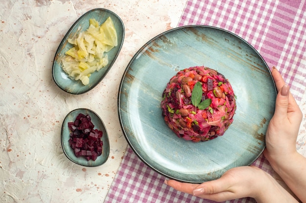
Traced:
<path fill-rule="evenodd" d="M 305 0 L 188 0 L 178 26 L 201 24 L 228 30 L 248 41 L 269 67 L 276 66 L 300 103 L 306 93 Z M 275 175 L 261 155 L 253 165 Z M 175 191 L 130 147 L 105 203 L 213 203 Z M 255 203 L 251 198 L 228 201 Z"/>

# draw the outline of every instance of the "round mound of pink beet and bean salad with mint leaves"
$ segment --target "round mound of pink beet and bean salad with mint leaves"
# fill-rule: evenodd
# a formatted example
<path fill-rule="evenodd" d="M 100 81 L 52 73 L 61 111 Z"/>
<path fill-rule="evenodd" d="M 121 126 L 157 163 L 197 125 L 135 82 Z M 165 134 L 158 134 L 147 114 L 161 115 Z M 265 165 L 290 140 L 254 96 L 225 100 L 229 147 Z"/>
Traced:
<path fill-rule="evenodd" d="M 162 96 L 166 124 L 185 140 L 214 139 L 233 122 L 236 96 L 225 76 L 214 69 L 196 66 L 179 71 Z"/>

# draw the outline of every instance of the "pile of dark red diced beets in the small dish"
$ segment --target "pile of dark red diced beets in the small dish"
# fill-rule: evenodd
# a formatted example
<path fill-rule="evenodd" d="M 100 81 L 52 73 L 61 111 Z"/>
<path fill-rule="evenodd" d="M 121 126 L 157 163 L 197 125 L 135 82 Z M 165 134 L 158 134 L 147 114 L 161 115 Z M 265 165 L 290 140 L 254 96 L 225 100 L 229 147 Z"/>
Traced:
<path fill-rule="evenodd" d="M 76 157 L 84 156 L 88 161 L 94 161 L 102 154 L 103 132 L 93 129 L 94 125 L 89 115 L 79 113 L 74 122 L 68 123 L 68 128 L 71 131 L 69 145 Z"/>

